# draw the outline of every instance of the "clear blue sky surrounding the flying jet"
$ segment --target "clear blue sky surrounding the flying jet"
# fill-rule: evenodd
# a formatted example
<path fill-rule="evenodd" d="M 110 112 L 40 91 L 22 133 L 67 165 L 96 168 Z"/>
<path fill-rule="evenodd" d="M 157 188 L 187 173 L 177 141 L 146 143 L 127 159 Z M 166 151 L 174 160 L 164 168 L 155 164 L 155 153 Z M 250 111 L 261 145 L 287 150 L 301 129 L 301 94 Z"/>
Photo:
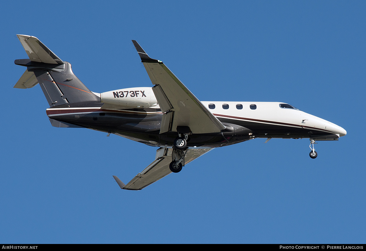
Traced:
<path fill-rule="evenodd" d="M 365 243 L 364 1 L 2 3 L 0 243 Z M 131 40 L 202 101 L 278 101 L 347 130 L 337 142 L 214 149 L 141 191 L 156 149 L 52 127 L 14 89 L 33 35 L 94 92 L 152 86 Z M 4 109 L 4 110 L 5 110 Z"/>

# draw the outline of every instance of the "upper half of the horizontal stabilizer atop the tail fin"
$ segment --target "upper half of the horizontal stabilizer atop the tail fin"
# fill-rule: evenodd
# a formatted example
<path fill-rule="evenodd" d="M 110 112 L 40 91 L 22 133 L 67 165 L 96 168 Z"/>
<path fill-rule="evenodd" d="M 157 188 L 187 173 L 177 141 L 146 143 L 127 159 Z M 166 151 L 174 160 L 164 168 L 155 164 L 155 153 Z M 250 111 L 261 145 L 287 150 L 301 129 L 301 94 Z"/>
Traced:
<path fill-rule="evenodd" d="M 22 43 L 29 59 L 34 62 L 42 62 L 46 64 L 64 64 L 59 57 L 48 49 L 36 37 L 28 35 L 16 35 Z"/>

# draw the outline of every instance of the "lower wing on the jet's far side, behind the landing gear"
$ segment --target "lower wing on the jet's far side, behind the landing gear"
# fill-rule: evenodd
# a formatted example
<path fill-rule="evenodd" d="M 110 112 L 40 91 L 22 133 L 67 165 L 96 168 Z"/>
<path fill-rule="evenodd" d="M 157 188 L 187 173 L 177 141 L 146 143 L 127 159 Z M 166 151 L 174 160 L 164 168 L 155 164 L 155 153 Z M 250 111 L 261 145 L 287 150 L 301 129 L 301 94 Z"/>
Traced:
<path fill-rule="evenodd" d="M 193 148 L 188 149 L 184 157 L 185 164 L 195 160 L 199 156 L 207 153 L 213 148 Z M 172 161 L 172 149 L 160 147 L 156 151 L 155 160 L 147 166 L 141 173 L 136 175 L 130 182 L 124 184 L 117 176 L 113 175 L 113 178 L 117 181 L 117 184 L 121 189 L 126 190 L 141 190 L 154 183 L 157 180 L 167 176 L 171 173 L 169 164 Z"/>

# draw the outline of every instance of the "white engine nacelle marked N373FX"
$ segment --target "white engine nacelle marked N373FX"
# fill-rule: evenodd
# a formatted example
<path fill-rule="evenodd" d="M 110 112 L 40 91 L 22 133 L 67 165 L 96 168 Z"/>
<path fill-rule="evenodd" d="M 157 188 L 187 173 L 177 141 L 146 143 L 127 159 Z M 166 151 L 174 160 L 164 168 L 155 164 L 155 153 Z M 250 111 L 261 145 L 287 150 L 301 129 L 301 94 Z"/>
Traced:
<path fill-rule="evenodd" d="M 107 106 L 127 108 L 147 108 L 157 105 L 157 100 L 150 87 L 134 87 L 100 94 L 100 100 Z"/>

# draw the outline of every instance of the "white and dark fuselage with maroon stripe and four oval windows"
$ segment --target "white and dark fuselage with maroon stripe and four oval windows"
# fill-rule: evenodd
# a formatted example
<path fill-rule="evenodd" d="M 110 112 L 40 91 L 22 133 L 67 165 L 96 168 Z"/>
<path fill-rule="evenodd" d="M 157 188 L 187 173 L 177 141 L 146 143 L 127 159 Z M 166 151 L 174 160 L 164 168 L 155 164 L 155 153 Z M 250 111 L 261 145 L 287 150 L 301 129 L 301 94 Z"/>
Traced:
<path fill-rule="evenodd" d="M 227 129 L 220 133 L 191 135 L 188 147 L 221 147 L 254 138 L 323 137 L 318 140 L 338 140 L 346 135 L 346 131 L 336 124 L 285 103 L 203 101 L 202 104 Z M 101 104 L 96 104 L 95 107 L 49 108 L 46 112 L 50 119 L 61 121 L 60 127 L 110 132 L 150 146 L 171 147 L 177 136 L 174 132 L 160 134 L 163 113 L 158 105 L 153 108 L 103 109 Z"/>

